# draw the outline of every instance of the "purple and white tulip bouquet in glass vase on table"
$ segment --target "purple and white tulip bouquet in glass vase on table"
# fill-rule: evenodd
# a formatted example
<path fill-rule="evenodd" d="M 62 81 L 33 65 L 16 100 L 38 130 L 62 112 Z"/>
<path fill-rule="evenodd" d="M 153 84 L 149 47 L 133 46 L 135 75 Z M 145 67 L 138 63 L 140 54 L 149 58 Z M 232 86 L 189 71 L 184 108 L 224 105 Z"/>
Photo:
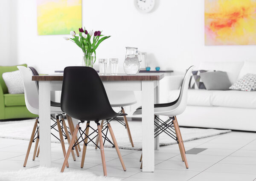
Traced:
<path fill-rule="evenodd" d="M 101 34 L 101 31 L 96 31 L 93 33 L 91 30 L 89 33 L 84 28 L 79 28 L 79 34 L 76 35 L 75 31 L 71 31 L 70 35 L 72 38 L 64 37 L 65 40 L 71 40 L 79 46 L 84 52 L 83 64 L 85 66 L 93 67 L 96 61 L 96 49 L 102 41 L 106 40 L 111 36 L 105 36 Z M 92 42 L 91 42 L 92 39 Z M 93 57 L 94 53 L 94 57 Z"/>

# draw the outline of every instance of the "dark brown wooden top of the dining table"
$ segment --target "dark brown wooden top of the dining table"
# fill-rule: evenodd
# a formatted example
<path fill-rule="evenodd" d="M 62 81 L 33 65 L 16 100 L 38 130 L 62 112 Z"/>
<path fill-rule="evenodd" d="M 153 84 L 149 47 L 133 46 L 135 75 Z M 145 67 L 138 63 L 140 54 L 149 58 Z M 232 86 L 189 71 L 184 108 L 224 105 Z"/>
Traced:
<path fill-rule="evenodd" d="M 127 81 L 127 80 L 161 80 L 164 78 L 164 73 L 138 73 L 137 75 L 99 75 L 102 81 Z M 37 81 L 62 81 L 63 74 L 55 75 L 35 75 L 32 80 Z"/>

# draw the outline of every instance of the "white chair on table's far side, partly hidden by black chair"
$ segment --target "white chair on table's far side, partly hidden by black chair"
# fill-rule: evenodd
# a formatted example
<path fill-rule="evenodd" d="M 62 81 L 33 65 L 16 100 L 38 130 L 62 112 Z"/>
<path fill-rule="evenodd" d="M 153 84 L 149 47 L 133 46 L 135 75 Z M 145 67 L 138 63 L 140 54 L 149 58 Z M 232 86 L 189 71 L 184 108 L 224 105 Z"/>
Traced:
<path fill-rule="evenodd" d="M 137 103 L 137 100 L 135 98 L 133 91 L 107 91 L 108 99 L 111 104 L 111 107 L 121 107 L 121 110 L 118 113 L 125 113 L 124 106 L 131 106 L 135 103 Z M 129 141 L 131 142 L 131 147 L 134 147 L 134 143 L 131 137 L 131 131 L 130 127 L 127 121 L 126 116 L 124 116 L 124 122 L 121 121 L 119 118 L 113 118 L 114 120 L 118 121 L 120 124 L 125 126 Z M 109 121 L 110 122 L 110 121 Z M 107 122 L 104 123 L 104 120 L 101 122 L 101 127 L 105 127 L 107 125 Z M 99 144 L 99 139 L 97 137 L 96 144 Z M 97 146 L 95 147 L 97 149 Z"/>

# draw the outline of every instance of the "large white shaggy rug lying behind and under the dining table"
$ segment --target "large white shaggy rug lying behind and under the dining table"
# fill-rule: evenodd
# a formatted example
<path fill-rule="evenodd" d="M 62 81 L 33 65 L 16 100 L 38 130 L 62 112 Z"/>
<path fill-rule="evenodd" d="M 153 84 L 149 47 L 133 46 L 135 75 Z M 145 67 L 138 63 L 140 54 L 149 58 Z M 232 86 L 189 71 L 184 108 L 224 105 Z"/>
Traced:
<path fill-rule="evenodd" d="M 40 120 L 39 120 L 40 121 Z M 35 120 L 23 120 L 23 121 L 8 121 L 8 122 L 0 122 L 0 138 L 12 138 L 12 139 L 22 139 L 29 140 L 31 136 L 31 132 L 34 126 Z M 67 121 L 66 121 L 67 123 Z M 142 149 L 142 126 L 140 121 L 129 121 L 129 127 L 131 130 L 131 136 L 134 142 L 134 147 L 131 147 L 131 143 L 129 142 L 129 138 L 127 135 L 127 131 L 124 126 L 119 124 L 117 121 L 111 121 L 111 126 L 113 128 L 113 132 L 116 137 L 116 141 L 120 149 L 134 149 L 141 150 Z M 86 123 L 80 124 L 81 128 L 84 130 Z M 94 129 L 97 129 L 96 124 L 91 121 L 90 126 Z M 76 127 L 76 125 L 75 125 Z M 56 129 L 58 129 L 56 127 Z M 202 128 L 180 128 L 180 132 L 183 138 L 183 141 L 192 141 L 200 138 L 207 138 L 210 136 L 220 135 L 227 132 L 231 132 L 231 130 L 222 130 L 222 129 L 202 129 Z M 58 136 L 58 132 L 52 129 L 52 133 Z M 111 139 L 110 134 L 108 133 L 108 137 Z M 177 142 L 170 138 L 165 133 L 160 134 L 160 146 L 176 144 Z M 52 142 L 59 143 L 59 141 L 52 136 Z M 67 140 L 65 140 L 67 143 Z M 94 140 L 95 141 L 95 140 Z M 93 145 L 90 142 L 88 145 Z M 112 147 L 107 141 L 105 142 L 105 147 Z"/>

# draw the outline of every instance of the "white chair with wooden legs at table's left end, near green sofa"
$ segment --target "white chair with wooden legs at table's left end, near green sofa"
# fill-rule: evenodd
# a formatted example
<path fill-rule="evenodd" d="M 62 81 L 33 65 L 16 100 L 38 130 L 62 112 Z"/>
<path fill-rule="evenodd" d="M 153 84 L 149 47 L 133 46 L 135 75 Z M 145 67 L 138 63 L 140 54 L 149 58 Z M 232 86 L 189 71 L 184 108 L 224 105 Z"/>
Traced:
<path fill-rule="evenodd" d="M 26 107 L 31 113 L 33 113 L 35 115 L 39 115 L 38 85 L 37 85 L 36 81 L 32 81 L 33 72 L 30 68 L 27 68 L 25 66 L 17 66 L 17 68 L 20 70 L 22 79 L 23 79 Z M 61 116 L 61 121 L 62 121 L 63 128 L 65 131 L 65 136 L 67 136 L 67 140 L 69 142 L 70 142 L 70 136 L 69 136 L 69 132 L 67 130 L 67 126 L 65 124 L 64 118 L 62 116 L 63 113 L 64 112 L 61 111 L 60 103 L 51 102 L 51 114 L 57 115 L 56 122 L 55 122 L 55 124 L 53 124 L 51 126 L 51 129 L 55 129 L 54 127 L 58 126 L 58 130 L 57 129 L 55 129 L 55 130 L 59 132 L 59 140 L 61 141 L 61 147 L 62 147 L 63 155 L 65 157 L 66 149 L 65 149 L 65 145 L 64 145 L 64 139 L 63 139 L 63 135 L 62 135 L 62 129 L 61 129 L 59 116 Z M 35 155 L 37 152 L 38 142 L 39 142 L 39 129 L 38 129 L 39 126 L 38 126 L 38 124 L 39 124 L 39 121 L 38 121 L 38 118 L 36 118 L 33 130 L 32 130 L 32 134 L 31 134 L 31 138 L 29 141 L 29 146 L 28 146 L 28 149 L 26 152 L 26 158 L 25 158 L 23 167 L 26 167 L 26 163 L 27 163 L 27 160 L 29 157 L 29 152 L 30 152 L 30 149 L 32 146 L 32 142 L 34 142 L 36 140 L 35 150 L 34 150 L 34 155 L 33 155 L 33 160 L 35 160 Z M 39 149 L 38 149 L 38 154 L 39 154 Z M 38 154 L 37 154 L 37 156 L 38 156 Z M 76 160 L 74 153 L 72 155 L 73 155 L 74 160 Z M 67 163 L 67 167 L 68 167 L 68 163 Z"/>

